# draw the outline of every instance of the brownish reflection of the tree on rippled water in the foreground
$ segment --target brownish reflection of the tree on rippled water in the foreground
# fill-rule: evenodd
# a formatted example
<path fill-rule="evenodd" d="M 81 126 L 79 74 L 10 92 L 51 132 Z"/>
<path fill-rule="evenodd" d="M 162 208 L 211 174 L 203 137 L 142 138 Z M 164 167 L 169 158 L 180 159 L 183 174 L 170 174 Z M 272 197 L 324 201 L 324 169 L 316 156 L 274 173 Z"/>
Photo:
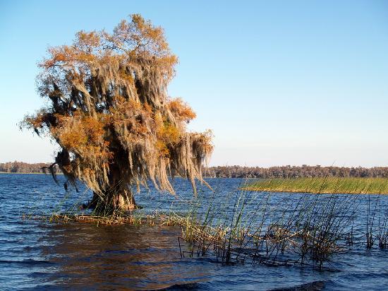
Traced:
<path fill-rule="evenodd" d="M 71 223 L 51 227 L 41 242 L 53 272 L 44 281 L 66 287 L 109 289 L 168 287 L 211 275 L 211 268 L 186 268 L 177 227 L 102 226 Z"/>

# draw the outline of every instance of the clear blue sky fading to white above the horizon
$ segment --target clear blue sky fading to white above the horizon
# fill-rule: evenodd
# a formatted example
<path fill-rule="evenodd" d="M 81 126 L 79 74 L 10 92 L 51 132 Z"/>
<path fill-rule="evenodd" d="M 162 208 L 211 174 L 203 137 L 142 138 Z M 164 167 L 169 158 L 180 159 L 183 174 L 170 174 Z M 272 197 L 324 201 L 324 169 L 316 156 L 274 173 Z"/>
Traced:
<path fill-rule="evenodd" d="M 388 1 L 0 0 L 0 162 L 53 160 L 17 126 L 47 46 L 131 13 L 165 29 L 210 165 L 388 166 Z"/>

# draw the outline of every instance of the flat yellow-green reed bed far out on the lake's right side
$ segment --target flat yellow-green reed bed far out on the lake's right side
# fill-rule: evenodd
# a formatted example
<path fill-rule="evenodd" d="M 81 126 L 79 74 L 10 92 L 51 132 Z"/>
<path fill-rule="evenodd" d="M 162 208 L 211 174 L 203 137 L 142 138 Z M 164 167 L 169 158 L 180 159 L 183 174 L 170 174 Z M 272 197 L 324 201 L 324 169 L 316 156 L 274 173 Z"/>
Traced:
<path fill-rule="evenodd" d="M 248 184 L 245 189 L 327 194 L 388 194 L 388 179 L 338 177 L 262 179 Z"/>

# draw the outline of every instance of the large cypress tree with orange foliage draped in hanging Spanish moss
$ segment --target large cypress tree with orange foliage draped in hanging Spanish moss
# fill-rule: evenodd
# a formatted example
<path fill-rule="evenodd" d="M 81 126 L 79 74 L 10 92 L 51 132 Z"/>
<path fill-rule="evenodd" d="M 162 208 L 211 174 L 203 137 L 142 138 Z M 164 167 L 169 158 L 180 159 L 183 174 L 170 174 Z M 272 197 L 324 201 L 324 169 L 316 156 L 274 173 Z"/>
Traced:
<path fill-rule="evenodd" d="M 47 106 L 23 124 L 59 144 L 55 162 L 69 182 L 115 208 L 133 208 L 131 186 L 147 181 L 174 194 L 169 175 L 195 192 L 212 134 L 189 132 L 195 112 L 167 94 L 177 61 L 163 29 L 138 14 L 111 33 L 80 31 L 48 49 L 37 76 Z"/>

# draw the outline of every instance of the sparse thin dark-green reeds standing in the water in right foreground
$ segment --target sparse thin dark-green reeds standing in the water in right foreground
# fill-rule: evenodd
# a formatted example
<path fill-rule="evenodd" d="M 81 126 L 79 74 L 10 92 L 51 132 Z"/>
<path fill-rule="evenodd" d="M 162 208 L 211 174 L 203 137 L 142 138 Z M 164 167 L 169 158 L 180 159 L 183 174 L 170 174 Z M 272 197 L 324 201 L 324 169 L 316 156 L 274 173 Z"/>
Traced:
<path fill-rule="evenodd" d="M 287 195 L 248 191 L 250 184 L 245 181 L 226 203 L 233 208 L 222 210 L 229 214 L 217 220 L 216 225 L 207 219 L 208 213 L 214 213 L 215 201 L 210 203 L 205 219 L 201 220 L 198 215 L 187 218 L 191 223 L 186 225 L 187 230 L 181 237 L 190 245 L 187 253 L 214 256 L 216 261 L 226 265 L 249 262 L 267 266 L 313 266 L 320 270 L 329 268 L 334 256 L 347 251 L 353 244 L 362 244 L 361 237 L 356 238 L 353 234 L 354 218 L 363 197 L 360 194 L 365 189 L 377 188 L 337 180 L 331 188 L 334 193 L 352 189 L 355 195 L 328 195 L 324 192 L 327 184 L 333 185 L 333 181 L 323 179 L 320 182 L 320 185 L 313 184 L 315 195 L 305 191 L 310 189 L 305 184 L 301 184 L 305 186 L 301 191 L 304 194 Z M 377 189 L 377 193 L 381 192 Z M 272 199 L 274 196 L 277 196 L 277 203 Z M 377 237 L 382 248 L 387 246 L 388 219 L 386 214 L 383 222 L 379 220 L 380 232 L 373 236 L 372 230 L 377 229 L 377 201 L 374 209 L 368 211 L 367 235 L 373 239 Z M 184 256 L 185 252 L 182 253 Z"/>

